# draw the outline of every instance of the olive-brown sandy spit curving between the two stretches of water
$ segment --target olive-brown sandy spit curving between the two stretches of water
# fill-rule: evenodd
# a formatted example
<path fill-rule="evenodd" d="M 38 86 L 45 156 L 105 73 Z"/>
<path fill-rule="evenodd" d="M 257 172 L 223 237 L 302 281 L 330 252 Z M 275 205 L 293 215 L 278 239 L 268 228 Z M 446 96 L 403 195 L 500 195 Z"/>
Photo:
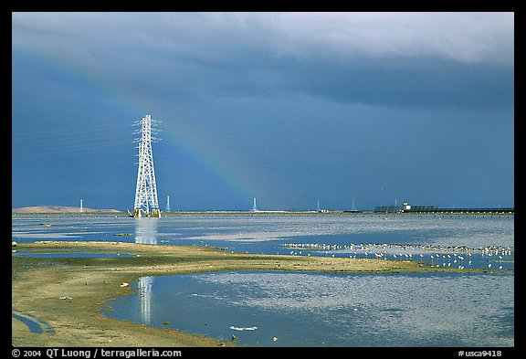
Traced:
<path fill-rule="evenodd" d="M 143 276 L 243 269 L 365 273 L 455 271 L 429 268 L 416 261 L 255 255 L 195 246 L 121 242 L 42 241 L 14 249 L 36 253 L 126 254 L 92 258 L 14 256 L 13 311 L 26 318 L 37 318 L 40 326 L 50 328 L 49 333 L 32 333 L 24 322 L 12 319 L 14 346 L 231 345 L 201 335 L 119 321 L 101 313 L 111 298 L 132 292 L 131 287 L 121 286 L 122 283 L 131 283 Z"/>

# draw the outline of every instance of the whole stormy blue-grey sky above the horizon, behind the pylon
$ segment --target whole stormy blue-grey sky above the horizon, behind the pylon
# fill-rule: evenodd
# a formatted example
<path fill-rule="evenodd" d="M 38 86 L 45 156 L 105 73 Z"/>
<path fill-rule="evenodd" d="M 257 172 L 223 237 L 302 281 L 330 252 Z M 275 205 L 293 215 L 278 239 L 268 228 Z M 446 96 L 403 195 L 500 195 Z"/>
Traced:
<path fill-rule="evenodd" d="M 514 206 L 512 13 L 13 13 L 12 206 Z"/>

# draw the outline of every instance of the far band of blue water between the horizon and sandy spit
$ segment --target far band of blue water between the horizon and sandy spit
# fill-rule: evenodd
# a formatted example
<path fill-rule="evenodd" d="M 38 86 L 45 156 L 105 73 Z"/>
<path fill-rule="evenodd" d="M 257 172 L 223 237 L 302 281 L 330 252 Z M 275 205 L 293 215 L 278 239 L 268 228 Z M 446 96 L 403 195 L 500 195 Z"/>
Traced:
<path fill-rule="evenodd" d="M 246 253 L 413 259 L 466 269 L 514 268 L 513 216 L 13 216 L 12 227 L 12 238 L 19 242 L 125 241 Z"/>

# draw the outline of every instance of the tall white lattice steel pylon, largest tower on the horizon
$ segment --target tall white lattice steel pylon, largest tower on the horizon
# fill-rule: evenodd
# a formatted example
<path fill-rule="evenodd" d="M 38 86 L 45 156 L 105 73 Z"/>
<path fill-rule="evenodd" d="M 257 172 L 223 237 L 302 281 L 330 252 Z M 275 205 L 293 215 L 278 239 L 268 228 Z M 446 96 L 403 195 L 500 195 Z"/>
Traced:
<path fill-rule="evenodd" d="M 133 206 L 133 216 L 161 216 L 159 202 L 157 200 L 157 185 L 155 185 L 155 170 L 153 169 L 152 143 L 159 139 L 152 136 L 158 132 L 153 126 L 159 121 L 153 120 L 152 116 L 146 115 L 135 125 L 140 125 L 141 130 L 134 133 L 141 133 L 139 142 L 139 169 L 137 171 L 137 187 L 135 188 L 135 205 Z"/>

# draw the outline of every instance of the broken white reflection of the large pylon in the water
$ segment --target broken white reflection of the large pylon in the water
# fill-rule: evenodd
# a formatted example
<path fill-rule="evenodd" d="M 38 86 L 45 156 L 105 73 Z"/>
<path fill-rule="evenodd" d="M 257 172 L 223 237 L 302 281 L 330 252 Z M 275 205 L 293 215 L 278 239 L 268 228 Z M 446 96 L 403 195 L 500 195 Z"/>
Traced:
<path fill-rule="evenodd" d="M 157 218 L 135 218 L 135 243 L 157 244 Z M 142 277 L 139 280 L 141 293 L 141 318 L 142 322 L 151 322 L 153 277 Z"/>

